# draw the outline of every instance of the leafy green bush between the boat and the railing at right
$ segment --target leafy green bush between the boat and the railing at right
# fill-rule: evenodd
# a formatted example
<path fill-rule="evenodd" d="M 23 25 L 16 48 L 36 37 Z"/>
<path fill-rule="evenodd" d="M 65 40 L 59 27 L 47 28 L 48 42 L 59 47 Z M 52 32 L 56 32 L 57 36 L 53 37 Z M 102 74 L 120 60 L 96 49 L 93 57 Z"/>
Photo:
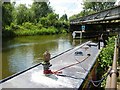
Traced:
<path fill-rule="evenodd" d="M 107 41 L 107 46 L 102 49 L 100 56 L 98 58 L 98 79 L 101 79 L 103 77 L 109 66 L 112 65 L 113 61 L 113 55 L 114 55 L 114 45 L 115 45 L 115 36 L 109 37 L 109 40 Z M 102 82 L 102 86 L 105 87 L 105 80 Z"/>

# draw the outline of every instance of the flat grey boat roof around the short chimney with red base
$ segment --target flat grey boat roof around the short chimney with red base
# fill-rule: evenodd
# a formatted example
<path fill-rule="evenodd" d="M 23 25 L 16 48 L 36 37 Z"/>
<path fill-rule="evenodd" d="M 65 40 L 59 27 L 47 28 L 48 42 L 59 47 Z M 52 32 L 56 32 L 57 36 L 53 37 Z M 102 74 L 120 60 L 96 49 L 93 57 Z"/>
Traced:
<path fill-rule="evenodd" d="M 3 82 L 2 88 L 79 88 L 101 51 L 98 46 L 89 47 L 87 44 L 97 45 L 89 41 L 51 59 L 51 70 L 61 69 L 61 76 L 45 76 L 42 65 L 39 65 Z M 75 55 L 75 52 L 83 52 L 83 56 Z M 71 67 L 64 68 L 70 65 Z"/>

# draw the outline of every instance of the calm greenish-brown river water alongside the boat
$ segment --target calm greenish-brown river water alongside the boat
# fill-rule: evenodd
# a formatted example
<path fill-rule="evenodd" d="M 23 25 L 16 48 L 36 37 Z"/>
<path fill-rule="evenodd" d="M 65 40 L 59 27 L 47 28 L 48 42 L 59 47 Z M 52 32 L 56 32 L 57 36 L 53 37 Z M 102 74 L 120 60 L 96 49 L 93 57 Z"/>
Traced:
<path fill-rule="evenodd" d="M 85 41 L 88 40 L 73 40 L 71 34 L 3 39 L 2 78 L 0 79 L 40 63 L 45 50 L 48 50 L 51 53 L 51 57 L 53 57 Z"/>

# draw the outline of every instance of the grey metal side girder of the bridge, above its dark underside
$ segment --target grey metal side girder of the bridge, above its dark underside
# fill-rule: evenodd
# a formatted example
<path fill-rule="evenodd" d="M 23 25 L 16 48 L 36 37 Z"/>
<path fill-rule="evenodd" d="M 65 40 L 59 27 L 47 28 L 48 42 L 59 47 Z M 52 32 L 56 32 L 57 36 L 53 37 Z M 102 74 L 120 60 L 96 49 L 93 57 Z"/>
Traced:
<path fill-rule="evenodd" d="M 104 21 L 110 22 L 112 20 L 117 20 L 116 22 L 120 22 L 118 21 L 120 20 L 120 6 L 70 20 L 70 24 L 94 24 L 103 23 Z"/>

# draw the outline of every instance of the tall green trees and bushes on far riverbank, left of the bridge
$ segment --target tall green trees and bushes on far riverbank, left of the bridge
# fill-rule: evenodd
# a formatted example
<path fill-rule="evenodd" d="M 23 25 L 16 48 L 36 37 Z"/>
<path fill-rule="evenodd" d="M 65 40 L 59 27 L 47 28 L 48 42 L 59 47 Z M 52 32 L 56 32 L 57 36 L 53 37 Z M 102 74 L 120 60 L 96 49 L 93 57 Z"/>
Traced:
<path fill-rule="evenodd" d="M 11 12 L 9 12 L 9 10 Z M 3 36 L 26 36 L 66 33 L 69 28 L 67 15 L 59 20 L 49 3 L 34 2 L 30 8 L 25 4 L 17 7 L 11 3 L 3 4 Z"/>

